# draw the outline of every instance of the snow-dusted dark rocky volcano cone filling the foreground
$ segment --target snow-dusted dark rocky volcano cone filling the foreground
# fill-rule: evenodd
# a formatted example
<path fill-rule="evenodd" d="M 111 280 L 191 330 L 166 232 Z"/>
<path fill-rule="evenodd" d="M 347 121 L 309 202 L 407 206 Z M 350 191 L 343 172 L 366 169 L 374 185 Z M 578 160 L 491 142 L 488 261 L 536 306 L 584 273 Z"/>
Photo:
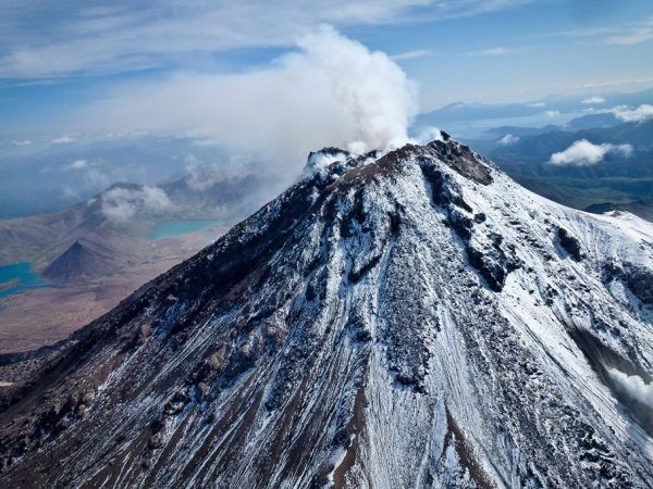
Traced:
<path fill-rule="evenodd" d="M 89 325 L 2 413 L 0 485 L 651 487 L 653 228 L 443 138 L 312 154 Z"/>

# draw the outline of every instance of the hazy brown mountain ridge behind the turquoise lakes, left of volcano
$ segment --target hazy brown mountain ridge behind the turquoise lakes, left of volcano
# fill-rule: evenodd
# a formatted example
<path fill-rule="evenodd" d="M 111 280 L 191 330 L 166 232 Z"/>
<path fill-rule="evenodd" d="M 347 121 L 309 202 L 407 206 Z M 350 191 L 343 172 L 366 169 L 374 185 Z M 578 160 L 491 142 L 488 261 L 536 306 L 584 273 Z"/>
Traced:
<path fill-rule="evenodd" d="M 195 175 L 158 186 L 114 184 L 69 210 L 0 221 L 0 265 L 29 261 L 46 269 L 63 254 L 70 258 L 71 252 L 91 249 L 113 256 L 109 260 L 128 261 L 128 250 L 148 239 L 158 222 L 219 218 L 227 224 L 261 203 L 262 180 L 256 175 L 197 179 Z"/>

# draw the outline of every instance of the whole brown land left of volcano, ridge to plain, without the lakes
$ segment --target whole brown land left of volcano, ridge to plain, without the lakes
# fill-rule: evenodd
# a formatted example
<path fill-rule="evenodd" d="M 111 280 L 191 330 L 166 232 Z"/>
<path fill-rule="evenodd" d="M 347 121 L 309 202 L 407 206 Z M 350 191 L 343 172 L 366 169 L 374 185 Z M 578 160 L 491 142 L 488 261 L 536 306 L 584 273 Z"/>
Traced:
<path fill-rule="evenodd" d="M 261 187 L 254 174 L 220 178 L 196 168 L 159 186 L 115 184 L 64 211 L 0 221 L 0 267 L 28 262 L 50 285 L 0 301 L 0 353 L 50 344 L 115 306 L 251 213 Z M 211 227 L 151 239 L 161 223 L 193 220 Z"/>

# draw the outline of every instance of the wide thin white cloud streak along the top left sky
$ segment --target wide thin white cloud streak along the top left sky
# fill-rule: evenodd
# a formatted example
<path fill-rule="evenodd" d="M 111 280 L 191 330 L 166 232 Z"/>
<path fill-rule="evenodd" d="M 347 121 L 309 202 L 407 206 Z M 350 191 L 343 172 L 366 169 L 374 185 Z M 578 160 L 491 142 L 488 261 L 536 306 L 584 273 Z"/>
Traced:
<path fill-rule="evenodd" d="M 187 54 L 289 47 L 321 23 L 420 22 L 497 11 L 531 0 L 159 0 L 3 5 L 0 77 L 121 73 L 184 62 Z M 47 20 L 47 22 L 45 22 Z M 25 26 L 30 26 L 26 30 Z"/>

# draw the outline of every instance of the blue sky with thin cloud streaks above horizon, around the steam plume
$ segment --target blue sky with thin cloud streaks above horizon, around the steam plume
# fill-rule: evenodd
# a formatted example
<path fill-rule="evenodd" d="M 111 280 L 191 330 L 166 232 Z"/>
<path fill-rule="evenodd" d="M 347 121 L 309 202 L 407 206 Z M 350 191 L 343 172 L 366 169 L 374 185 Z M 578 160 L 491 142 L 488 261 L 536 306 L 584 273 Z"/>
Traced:
<path fill-rule="evenodd" d="M 133 87 L 270 70 L 324 23 L 394 60 L 421 111 L 653 86 L 651 0 L 0 0 L 0 135 L 79 133 Z M 97 130 L 132 129 L 114 125 Z"/>

